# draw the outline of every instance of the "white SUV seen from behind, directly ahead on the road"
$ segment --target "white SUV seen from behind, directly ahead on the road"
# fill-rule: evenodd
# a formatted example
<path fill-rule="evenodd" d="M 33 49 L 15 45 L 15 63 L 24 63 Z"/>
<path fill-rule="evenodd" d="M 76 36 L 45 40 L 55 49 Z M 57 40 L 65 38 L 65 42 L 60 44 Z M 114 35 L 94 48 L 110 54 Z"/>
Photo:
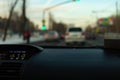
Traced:
<path fill-rule="evenodd" d="M 85 44 L 85 34 L 80 27 L 68 28 L 65 35 L 65 43 L 82 43 Z"/>

